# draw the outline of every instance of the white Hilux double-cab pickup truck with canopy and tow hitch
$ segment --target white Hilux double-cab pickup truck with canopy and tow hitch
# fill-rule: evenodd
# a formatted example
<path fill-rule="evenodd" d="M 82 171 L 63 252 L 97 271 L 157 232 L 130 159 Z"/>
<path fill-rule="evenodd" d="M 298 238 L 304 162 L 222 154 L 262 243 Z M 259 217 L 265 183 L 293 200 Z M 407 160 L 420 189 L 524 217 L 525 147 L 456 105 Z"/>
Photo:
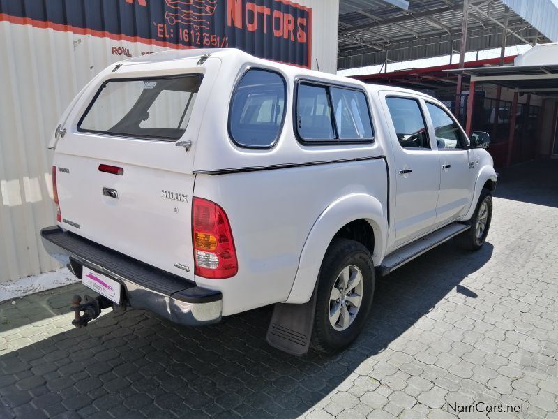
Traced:
<path fill-rule="evenodd" d="M 62 116 L 43 243 L 100 294 L 74 297 L 78 327 L 111 306 L 204 325 L 275 304 L 271 345 L 331 353 L 376 277 L 452 237 L 483 245 L 489 141 L 416 91 L 159 52 L 102 71 Z"/>

